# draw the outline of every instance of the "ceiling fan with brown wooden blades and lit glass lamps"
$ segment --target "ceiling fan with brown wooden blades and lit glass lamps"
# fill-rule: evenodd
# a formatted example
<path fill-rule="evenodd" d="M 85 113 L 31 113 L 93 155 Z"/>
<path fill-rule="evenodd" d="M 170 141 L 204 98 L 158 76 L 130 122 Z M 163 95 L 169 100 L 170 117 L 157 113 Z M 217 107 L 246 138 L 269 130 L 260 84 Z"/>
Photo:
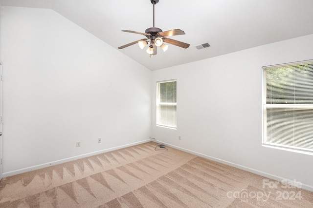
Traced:
<path fill-rule="evenodd" d="M 122 30 L 127 33 L 135 33 L 139 35 L 144 35 L 146 38 L 136 40 L 134 42 L 128 43 L 126 45 L 118 47 L 119 49 L 126 48 L 128 46 L 134 45 L 136 43 L 139 44 L 139 47 L 143 49 L 149 43 L 149 47 L 147 49 L 147 53 L 150 54 L 150 57 L 156 55 L 156 47 L 159 46 L 164 52 L 167 50 L 168 45 L 163 42 L 179 46 L 181 48 L 188 48 L 189 44 L 180 42 L 178 40 L 174 40 L 171 38 L 166 38 L 168 36 L 177 36 L 177 35 L 185 35 L 185 32 L 180 29 L 162 31 L 160 28 L 155 27 L 155 4 L 158 3 L 159 0 L 150 0 L 153 4 L 153 27 L 146 29 L 144 33 L 135 32 L 131 30 Z"/>

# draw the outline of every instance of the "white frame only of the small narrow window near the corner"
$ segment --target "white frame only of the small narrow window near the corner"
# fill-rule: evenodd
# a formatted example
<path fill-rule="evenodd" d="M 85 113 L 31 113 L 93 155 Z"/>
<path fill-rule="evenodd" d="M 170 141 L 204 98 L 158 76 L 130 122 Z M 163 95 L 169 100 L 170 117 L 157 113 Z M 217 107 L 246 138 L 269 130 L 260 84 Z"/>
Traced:
<path fill-rule="evenodd" d="M 176 103 L 174 102 L 160 102 L 160 84 L 161 83 L 167 83 L 167 82 L 176 82 Z M 156 126 L 158 127 L 165 127 L 169 129 L 177 129 L 177 114 L 176 114 L 176 126 L 171 125 L 164 125 L 161 124 L 161 106 L 177 106 L 177 79 L 170 79 L 170 80 L 164 80 L 164 81 L 157 81 L 156 82 Z M 176 109 L 177 113 L 177 109 Z"/>

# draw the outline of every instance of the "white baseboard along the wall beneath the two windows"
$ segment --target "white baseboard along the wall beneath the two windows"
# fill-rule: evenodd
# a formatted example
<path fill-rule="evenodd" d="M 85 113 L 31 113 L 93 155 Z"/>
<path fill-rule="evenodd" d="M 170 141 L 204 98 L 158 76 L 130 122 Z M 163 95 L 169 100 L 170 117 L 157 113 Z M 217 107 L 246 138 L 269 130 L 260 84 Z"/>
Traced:
<path fill-rule="evenodd" d="M 156 140 L 151 139 L 151 141 L 156 141 Z M 188 152 L 188 153 L 191 153 L 191 154 L 195 154 L 197 156 L 204 157 L 204 158 L 209 159 L 209 160 L 213 160 L 213 161 L 216 161 L 216 162 L 219 162 L 219 163 L 223 163 L 225 165 L 229 165 L 229 166 L 241 169 L 241 170 L 246 170 L 248 172 L 252 172 L 254 174 L 261 175 L 261 176 L 273 179 L 275 181 L 283 181 L 284 180 L 287 184 L 294 184 L 294 180 L 291 180 L 291 179 L 286 179 L 286 178 L 283 178 L 283 177 L 280 177 L 280 176 L 277 176 L 277 175 L 273 175 L 273 174 L 270 174 L 270 173 L 267 173 L 267 172 L 263 172 L 263 171 L 260 171 L 260 170 L 255 170 L 255 169 L 252 169 L 252 168 L 248 168 L 246 166 L 242 166 L 242 165 L 239 165 L 239 164 L 236 164 L 236 163 L 232 163 L 232 162 L 229 162 L 229 161 L 226 161 L 226 160 L 222 160 L 222 159 L 219 159 L 219 158 L 216 158 L 216 157 L 212 157 L 212 156 L 209 156 L 209 155 L 206 155 L 206 154 L 202 154 L 202 153 L 199 153 L 199 152 L 196 152 L 196 151 L 191 151 L 191 150 L 188 150 L 188 149 L 184 149 L 184 148 L 181 148 L 181 147 L 178 147 L 178 146 L 175 146 L 175 145 L 171 145 L 171 144 L 168 144 L 166 142 L 159 141 L 159 140 L 157 140 L 157 142 L 158 143 L 164 143 L 164 144 L 166 144 L 169 147 L 173 147 L 173 148 L 181 150 L 181 151 L 185 151 L 185 152 Z M 305 190 L 313 191 L 313 186 L 310 186 L 310 185 L 307 185 L 307 184 L 301 184 L 301 188 L 305 189 Z"/>

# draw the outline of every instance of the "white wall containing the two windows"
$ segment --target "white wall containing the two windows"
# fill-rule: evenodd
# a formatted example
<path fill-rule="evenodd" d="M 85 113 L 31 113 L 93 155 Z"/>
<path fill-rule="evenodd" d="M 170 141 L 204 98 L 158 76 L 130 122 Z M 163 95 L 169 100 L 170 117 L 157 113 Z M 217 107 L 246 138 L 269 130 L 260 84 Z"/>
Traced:
<path fill-rule="evenodd" d="M 271 178 L 296 179 L 313 190 L 313 155 L 261 144 L 262 66 L 307 59 L 313 59 L 313 35 L 154 71 L 153 136 Z M 177 130 L 156 127 L 156 81 L 175 78 Z"/>

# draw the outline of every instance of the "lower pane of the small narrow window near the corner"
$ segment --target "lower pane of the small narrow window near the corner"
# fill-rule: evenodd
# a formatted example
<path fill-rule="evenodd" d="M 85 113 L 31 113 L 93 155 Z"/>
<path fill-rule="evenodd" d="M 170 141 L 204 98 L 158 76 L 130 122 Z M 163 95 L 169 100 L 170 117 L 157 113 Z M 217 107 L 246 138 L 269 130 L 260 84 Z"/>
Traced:
<path fill-rule="evenodd" d="M 176 106 L 160 106 L 160 125 L 176 127 Z"/>

